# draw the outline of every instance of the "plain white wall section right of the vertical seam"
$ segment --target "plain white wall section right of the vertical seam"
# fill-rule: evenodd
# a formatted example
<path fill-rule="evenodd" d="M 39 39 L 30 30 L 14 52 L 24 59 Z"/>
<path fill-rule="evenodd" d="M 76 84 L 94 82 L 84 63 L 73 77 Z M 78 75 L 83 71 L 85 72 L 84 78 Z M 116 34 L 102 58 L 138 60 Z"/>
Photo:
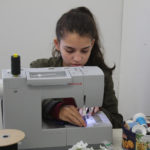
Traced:
<path fill-rule="evenodd" d="M 125 0 L 119 109 L 127 119 L 150 115 L 150 1 Z"/>

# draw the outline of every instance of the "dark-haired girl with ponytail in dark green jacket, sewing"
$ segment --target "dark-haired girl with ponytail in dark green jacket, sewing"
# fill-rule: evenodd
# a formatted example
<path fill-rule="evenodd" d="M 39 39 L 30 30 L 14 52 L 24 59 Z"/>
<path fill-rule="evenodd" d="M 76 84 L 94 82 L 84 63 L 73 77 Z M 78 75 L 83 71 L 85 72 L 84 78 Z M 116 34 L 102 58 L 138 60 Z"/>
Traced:
<path fill-rule="evenodd" d="M 98 66 L 105 76 L 102 107 L 94 107 L 93 113 L 103 111 L 114 128 L 122 126 L 123 117 L 118 113 L 118 101 L 114 92 L 112 71 L 104 61 L 99 34 L 94 17 L 86 7 L 71 9 L 63 14 L 56 25 L 53 57 L 33 61 L 31 67 Z M 77 126 L 86 126 L 72 98 L 46 99 L 42 103 L 45 119 L 63 120 Z"/>

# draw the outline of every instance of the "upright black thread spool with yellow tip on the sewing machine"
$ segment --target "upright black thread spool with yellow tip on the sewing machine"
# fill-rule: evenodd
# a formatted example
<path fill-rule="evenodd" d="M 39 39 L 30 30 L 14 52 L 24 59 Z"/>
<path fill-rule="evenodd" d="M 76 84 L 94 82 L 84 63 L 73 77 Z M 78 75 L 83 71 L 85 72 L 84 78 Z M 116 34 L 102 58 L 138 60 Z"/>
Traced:
<path fill-rule="evenodd" d="M 15 53 L 11 56 L 11 73 L 15 76 L 20 74 L 20 56 Z"/>

